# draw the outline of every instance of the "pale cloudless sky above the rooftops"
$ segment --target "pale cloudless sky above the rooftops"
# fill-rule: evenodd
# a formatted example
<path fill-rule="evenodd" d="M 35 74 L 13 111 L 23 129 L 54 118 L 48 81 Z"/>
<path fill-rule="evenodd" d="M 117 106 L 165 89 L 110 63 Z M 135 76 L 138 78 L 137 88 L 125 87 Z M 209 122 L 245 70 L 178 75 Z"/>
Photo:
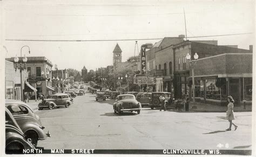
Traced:
<path fill-rule="evenodd" d="M 122 60 L 134 55 L 130 41 L 10 41 L 31 40 L 138 40 L 138 46 L 164 37 L 252 33 L 221 37 L 188 38 L 218 40 L 218 45 L 254 44 L 254 1 L 4 1 L 3 52 L 6 58 L 45 56 L 58 69 L 88 70 L 112 65 L 118 43 Z M 136 49 L 137 54 L 137 49 Z"/>

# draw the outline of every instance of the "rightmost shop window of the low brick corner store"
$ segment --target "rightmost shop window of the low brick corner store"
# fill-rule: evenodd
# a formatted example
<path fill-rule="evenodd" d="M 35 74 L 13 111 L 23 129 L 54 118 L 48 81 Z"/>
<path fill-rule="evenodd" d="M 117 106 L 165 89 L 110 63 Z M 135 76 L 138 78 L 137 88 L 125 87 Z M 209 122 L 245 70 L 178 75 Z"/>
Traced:
<path fill-rule="evenodd" d="M 244 81 L 244 82 L 243 82 Z M 241 78 L 241 100 L 252 101 L 252 78 Z"/>

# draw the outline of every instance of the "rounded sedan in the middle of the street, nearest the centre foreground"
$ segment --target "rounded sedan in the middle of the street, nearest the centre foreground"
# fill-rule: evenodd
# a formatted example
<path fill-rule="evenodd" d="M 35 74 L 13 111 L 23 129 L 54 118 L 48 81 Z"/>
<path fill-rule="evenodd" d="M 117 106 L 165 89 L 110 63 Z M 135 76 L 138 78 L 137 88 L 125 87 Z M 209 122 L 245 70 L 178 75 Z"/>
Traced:
<path fill-rule="evenodd" d="M 114 113 L 122 114 L 124 111 L 137 111 L 140 113 L 142 105 L 132 94 L 122 94 L 117 96 L 116 102 L 113 104 Z"/>

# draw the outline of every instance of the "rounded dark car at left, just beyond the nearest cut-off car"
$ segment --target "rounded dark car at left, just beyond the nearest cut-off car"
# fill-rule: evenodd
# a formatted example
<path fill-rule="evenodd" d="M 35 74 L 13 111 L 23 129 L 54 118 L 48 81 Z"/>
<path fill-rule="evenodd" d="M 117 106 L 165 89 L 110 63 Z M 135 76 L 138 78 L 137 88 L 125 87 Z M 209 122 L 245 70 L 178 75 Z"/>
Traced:
<path fill-rule="evenodd" d="M 5 107 L 11 112 L 21 130 L 27 138 L 32 140 L 33 145 L 37 145 L 38 140 L 45 140 L 44 126 L 39 117 L 33 112 L 30 106 L 22 101 L 5 100 Z"/>

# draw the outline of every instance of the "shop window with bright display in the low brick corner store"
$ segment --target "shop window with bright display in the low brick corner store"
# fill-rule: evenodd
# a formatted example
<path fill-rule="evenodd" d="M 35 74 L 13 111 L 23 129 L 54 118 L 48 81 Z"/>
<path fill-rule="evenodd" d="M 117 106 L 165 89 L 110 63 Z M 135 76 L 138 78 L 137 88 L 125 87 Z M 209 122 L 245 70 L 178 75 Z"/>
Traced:
<path fill-rule="evenodd" d="M 220 100 L 220 87 L 215 85 L 217 79 L 206 80 L 206 98 Z"/>

